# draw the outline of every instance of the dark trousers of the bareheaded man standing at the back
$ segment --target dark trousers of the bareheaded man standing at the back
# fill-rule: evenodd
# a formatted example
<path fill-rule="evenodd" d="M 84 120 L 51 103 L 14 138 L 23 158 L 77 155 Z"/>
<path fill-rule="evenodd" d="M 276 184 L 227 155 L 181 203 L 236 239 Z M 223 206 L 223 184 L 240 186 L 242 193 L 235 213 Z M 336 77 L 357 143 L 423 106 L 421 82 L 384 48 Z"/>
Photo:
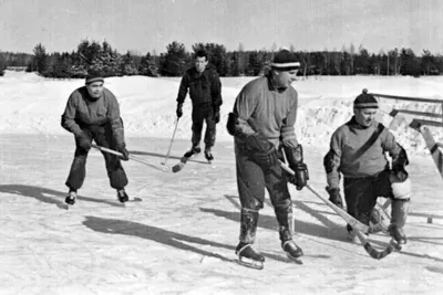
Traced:
<path fill-rule="evenodd" d="M 193 146 L 198 146 L 202 140 L 203 124 L 206 122 L 205 146 L 210 148 L 215 144 L 216 124 L 214 120 L 214 108 L 212 105 L 193 106 Z"/>

